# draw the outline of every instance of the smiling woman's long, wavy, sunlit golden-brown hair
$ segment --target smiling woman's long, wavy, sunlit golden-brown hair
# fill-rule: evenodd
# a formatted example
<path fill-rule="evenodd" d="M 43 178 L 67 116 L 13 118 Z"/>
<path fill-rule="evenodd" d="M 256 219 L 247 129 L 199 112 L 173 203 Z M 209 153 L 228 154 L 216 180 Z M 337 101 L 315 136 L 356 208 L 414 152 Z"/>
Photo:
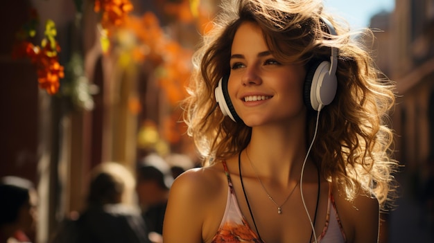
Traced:
<path fill-rule="evenodd" d="M 393 132 L 388 112 L 394 106 L 394 83 L 374 65 L 360 42 L 373 37 L 369 29 L 351 32 L 345 21 L 324 11 L 322 1 L 223 1 L 214 28 L 202 38 L 193 55 L 189 97 L 184 121 L 204 165 L 234 156 L 250 142 L 252 128 L 223 116 L 214 96 L 220 78 L 230 72 L 229 57 L 238 26 L 252 21 L 263 31 L 266 44 L 280 62 L 304 64 L 329 60 L 338 49 L 338 89 L 322 109 L 318 135 L 310 156 L 323 177 L 336 181 L 348 199 L 362 192 L 374 195 L 382 206 L 394 191 Z M 337 35 L 330 35 L 322 18 Z M 357 37 L 355 37 L 357 35 Z M 316 111 L 307 112 L 306 141 L 315 130 Z"/>

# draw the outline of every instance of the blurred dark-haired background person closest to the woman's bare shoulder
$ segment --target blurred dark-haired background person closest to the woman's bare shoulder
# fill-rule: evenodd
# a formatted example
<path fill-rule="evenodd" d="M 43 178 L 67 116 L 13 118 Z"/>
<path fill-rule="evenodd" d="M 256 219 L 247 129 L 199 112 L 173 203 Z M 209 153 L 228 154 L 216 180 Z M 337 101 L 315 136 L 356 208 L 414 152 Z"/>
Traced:
<path fill-rule="evenodd" d="M 171 168 L 158 154 L 152 153 L 139 161 L 137 165 L 136 191 L 142 215 L 153 234 L 153 242 L 163 233 L 163 219 L 166 212 L 168 191 L 173 182 Z"/>

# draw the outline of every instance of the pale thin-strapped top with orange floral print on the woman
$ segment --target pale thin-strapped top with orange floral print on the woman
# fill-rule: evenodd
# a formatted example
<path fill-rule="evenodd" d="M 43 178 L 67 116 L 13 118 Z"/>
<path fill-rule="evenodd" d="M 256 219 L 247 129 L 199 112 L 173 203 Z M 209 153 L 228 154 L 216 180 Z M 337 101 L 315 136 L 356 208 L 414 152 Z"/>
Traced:
<path fill-rule="evenodd" d="M 220 222 L 220 227 L 216 235 L 214 235 L 212 243 L 236 243 L 236 242 L 250 242 L 250 243 L 265 243 L 250 228 L 247 220 L 238 206 L 234 186 L 232 185 L 227 170 L 226 162 L 223 161 L 223 168 L 229 183 L 229 190 L 227 191 L 227 203 L 225 214 Z M 331 186 L 329 187 L 329 204 L 327 209 L 326 224 L 322 230 L 321 235 L 318 237 L 318 242 L 321 243 L 345 243 L 347 242 L 345 233 L 342 230 L 338 213 L 336 212 L 336 205 L 334 203 L 333 195 L 331 194 Z"/>

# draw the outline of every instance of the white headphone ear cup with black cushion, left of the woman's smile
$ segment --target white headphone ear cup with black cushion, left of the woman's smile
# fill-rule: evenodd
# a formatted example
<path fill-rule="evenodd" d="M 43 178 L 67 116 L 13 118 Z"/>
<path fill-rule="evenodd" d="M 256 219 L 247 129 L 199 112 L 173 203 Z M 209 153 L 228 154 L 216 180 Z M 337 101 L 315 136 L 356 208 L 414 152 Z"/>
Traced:
<path fill-rule="evenodd" d="M 236 114 L 234 105 L 232 105 L 231 98 L 229 97 L 229 92 L 227 91 L 227 82 L 229 80 L 229 75 L 224 75 L 218 81 L 218 86 L 216 87 L 214 94 L 216 96 L 216 102 L 223 113 L 223 116 L 229 116 L 234 122 L 242 122 L 241 118 Z"/>

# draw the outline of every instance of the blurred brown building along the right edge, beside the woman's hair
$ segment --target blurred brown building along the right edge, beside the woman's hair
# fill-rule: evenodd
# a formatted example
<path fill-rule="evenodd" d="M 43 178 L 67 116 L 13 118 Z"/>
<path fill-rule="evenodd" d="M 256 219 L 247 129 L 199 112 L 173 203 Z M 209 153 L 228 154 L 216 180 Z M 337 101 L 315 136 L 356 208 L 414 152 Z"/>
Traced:
<path fill-rule="evenodd" d="M 379 68 L 397 82 L 391 113 L 399 199 L 390 212 L 389 242 L 434 242 L 434 1 L 396 0 L 372 17 Z M 431 186 L 429 186 L 431 185 Z"/>

